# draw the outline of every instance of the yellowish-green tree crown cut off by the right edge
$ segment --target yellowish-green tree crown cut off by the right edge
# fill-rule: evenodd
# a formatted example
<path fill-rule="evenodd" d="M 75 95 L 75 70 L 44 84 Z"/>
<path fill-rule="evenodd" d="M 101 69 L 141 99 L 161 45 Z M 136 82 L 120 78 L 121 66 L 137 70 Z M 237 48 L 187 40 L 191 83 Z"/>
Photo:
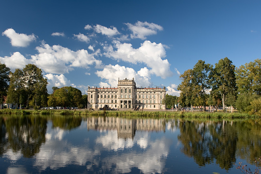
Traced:
<path fill-rule="evenodd" d="M 251 92 L 261 95 L 261 59 L 236 68 L 238 92 Z"/>

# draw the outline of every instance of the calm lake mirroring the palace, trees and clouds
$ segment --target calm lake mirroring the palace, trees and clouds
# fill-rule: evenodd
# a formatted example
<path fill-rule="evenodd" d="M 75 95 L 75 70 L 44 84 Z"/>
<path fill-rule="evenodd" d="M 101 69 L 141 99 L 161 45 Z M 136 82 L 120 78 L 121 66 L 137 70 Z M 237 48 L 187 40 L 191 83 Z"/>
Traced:
<path fill-rule="evenodd" d="M 261 120 L 0 116 L 1 173 L 242 173 Z"/>

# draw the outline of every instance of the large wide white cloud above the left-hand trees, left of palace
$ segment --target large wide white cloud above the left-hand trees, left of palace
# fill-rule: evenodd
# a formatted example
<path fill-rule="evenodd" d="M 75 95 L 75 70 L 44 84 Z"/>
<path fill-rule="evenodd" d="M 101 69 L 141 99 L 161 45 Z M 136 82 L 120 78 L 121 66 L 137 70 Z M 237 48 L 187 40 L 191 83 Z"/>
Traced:
<path fill-rule="evenodd" d="M 72 51 L 59 45 L 51 47 L 48 44 L 36 47 L 36 50 L 38 54 L 31 56 L 32 61 L 48 73 L 63 74 L 73 70 L 73 67 L 89 68 L 93 64 L 96 67 L 101 66 L 101 61 L 94 57 L 100 50 L 89 54 L 84 49 Z"/>

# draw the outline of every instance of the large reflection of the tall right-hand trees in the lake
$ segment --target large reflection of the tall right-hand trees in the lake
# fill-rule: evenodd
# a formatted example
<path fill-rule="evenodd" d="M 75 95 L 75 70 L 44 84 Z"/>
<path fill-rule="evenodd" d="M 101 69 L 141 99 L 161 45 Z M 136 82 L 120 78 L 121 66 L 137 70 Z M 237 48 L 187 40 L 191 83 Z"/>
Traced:
<path fill-rule="evenodd" d="M 182 152 L 204 166 L 216 161 L 228 170 L 235 162 L 237 132 L 227 122 L 181 121 Z"/>

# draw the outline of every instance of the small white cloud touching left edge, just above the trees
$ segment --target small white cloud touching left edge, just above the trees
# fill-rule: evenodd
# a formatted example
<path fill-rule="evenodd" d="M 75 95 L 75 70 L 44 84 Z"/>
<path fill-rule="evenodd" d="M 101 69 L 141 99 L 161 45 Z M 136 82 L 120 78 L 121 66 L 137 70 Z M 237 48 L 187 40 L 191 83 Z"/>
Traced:
<path fill-rule="evenodd" d="M 0 60 L 6 64 L 12 72 L 14 72 L 16 68 L 23 69 L 27 64 L 32 64 L 31 60 L 26 59 L 20 52 L 14 52 L 10 57 L 0 57 Z"/>

